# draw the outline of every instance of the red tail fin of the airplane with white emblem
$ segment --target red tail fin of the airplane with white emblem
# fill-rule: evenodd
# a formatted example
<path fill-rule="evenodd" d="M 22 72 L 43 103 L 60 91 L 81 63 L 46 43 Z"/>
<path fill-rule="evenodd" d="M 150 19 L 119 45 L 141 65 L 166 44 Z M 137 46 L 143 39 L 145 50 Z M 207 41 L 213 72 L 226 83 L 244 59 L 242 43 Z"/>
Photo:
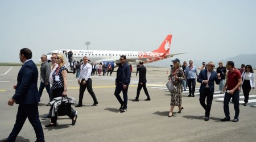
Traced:
<path fill-rule="evenodd" d="M 155 49 L 152 52 L 166 53 L 166 55 L 168 55 L 170 52 L 171 40 L 172 40 L 172 35 L 167 35 L 166 39 L 164 39 L 160 47 L 158 49 Z"/>

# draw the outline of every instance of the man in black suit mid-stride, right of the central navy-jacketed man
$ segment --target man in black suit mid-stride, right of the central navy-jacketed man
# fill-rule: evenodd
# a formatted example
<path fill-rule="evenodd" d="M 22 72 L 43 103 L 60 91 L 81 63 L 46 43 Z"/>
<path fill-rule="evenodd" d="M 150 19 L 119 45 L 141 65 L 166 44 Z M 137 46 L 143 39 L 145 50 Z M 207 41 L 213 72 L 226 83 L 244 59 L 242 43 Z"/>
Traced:
<path fill-rule="evenodd" d="M 139 62 L 139 83 L 138 83 L 138 87 L 137 87 L 137 95 L 136 98 L 133 99 L 133 101 L 138 102 L 139 101 L 139 93 L 143 87 L 143 90 L 145 92 L 145 94 L 147 95 L 147 99 L 144 99 L 144 101 L 150 101 L 150 95 L 148 94 L 147 91 L 147 87 L 146 87 L 146 73 L 147 73 L 147 69 L 146 67 L 143 65 L 143 61 Z"/>

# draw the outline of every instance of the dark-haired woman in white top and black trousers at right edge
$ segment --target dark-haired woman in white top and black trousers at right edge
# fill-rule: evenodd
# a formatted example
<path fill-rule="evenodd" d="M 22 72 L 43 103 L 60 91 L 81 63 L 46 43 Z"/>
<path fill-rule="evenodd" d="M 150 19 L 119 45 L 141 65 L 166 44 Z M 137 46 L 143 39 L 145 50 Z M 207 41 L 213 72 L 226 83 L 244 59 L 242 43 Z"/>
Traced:
<path fill-rule="evenodd" d="M 251 65 L 245 66 L 245 71 L 242 73 L 242 89 L 243 89 L 243 95 L 245 96 L 245 100 L 243 103 L 243 106 L 246 106 L 249 99 L 249 93 L 251 88 L 254 89 L 255 87 L 255 78 L 254 78 L 254 72 Z"/>

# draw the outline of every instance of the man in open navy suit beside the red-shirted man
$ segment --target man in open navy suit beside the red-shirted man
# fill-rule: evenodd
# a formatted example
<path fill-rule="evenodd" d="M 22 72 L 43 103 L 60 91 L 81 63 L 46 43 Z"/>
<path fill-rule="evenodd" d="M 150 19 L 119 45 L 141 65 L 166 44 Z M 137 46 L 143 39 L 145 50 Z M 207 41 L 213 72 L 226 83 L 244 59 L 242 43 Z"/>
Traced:
<path fill-rule="evenodd" d="M 207 69 L 202 69 L 197 77 L 197 82 L 201 83 L 200 86 L 200 104 L 205 110 L 205 121 L 209 120 L 210 107 L 212 107 L 212 99 L 214 94 L 214 81 L 218 85 L 220 83 L 220 74 L 217 74 L 214 69 L 213 62 L 207 64 Z M 207 98 L 207 104 L 205 104 L 205 98 Z"/>

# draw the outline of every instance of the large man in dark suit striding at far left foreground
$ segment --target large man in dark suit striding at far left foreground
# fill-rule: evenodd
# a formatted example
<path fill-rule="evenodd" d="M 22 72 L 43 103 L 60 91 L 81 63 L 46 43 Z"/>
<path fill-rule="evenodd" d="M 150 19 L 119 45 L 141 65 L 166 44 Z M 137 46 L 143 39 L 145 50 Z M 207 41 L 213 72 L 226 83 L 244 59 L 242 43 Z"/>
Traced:
<path fill-rule="evenodd" d="M 13 131 L 7 139 L 1 141 L 15 141 L 26 119 L 32 124 L 36 141 L 44 141 L 44 132 L 39 120 L 38 102 L 38 68 L 31 60 L 32 52 L 28 48 L 20 49 L 19 59 L 23 63 L 17 77 L 17 84 L 14 85 L 15 94 L 10 98 L 8 105 L 19 104 L 16 115 L 16 122 Z"/>

